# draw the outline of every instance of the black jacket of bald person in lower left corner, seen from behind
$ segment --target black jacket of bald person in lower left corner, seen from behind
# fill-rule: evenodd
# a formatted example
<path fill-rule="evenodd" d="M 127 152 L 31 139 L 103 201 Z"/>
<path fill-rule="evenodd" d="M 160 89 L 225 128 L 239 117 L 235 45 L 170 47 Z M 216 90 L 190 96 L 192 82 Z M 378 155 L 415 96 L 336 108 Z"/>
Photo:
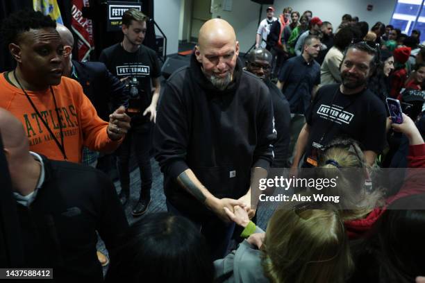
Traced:
<path fill-rule="evenodd" d="M 23 267 L 53 268 L 56 282 L 101 282 L 96 231 L 111 251 L 128 228 L 115 187 L 91 167 L 45 157 L 43 162 L 45 179 L 35 200 L 29 207 L 17 203 Z"/>

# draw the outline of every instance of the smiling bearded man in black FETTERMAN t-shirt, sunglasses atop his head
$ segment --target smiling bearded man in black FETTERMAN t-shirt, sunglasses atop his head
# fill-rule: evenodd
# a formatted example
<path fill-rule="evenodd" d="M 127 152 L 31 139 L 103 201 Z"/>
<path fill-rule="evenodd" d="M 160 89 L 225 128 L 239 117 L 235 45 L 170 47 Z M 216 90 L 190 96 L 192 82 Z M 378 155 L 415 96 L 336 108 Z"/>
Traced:
<path fill-rule="evenodd" d="M 294 172 L 301 157 L 303 166 L 317 166 L 317 152 L 337 137 L 349 137 L 363 146 L 365 161 L 375 162 L 385 144 L 386 110 L 382 101 L 367 89 L 376 67 L 378 52 L 367 44 L 351 44 L 341 65 L 342 84 L 321 87 L 306 113 L 295 146 Z"/>

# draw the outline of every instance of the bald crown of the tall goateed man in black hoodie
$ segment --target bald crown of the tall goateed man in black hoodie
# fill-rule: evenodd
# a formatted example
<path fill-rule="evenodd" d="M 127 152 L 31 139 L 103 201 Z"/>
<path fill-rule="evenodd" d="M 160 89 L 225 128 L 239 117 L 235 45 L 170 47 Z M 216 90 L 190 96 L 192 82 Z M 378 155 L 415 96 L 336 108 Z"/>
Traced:
<path fill-rule="evenodd" d="M 201 50 L 213 42 L 236 44 L 235 30 L 224 19 L 210 19 L 199 30 L 198 45 Z"/>

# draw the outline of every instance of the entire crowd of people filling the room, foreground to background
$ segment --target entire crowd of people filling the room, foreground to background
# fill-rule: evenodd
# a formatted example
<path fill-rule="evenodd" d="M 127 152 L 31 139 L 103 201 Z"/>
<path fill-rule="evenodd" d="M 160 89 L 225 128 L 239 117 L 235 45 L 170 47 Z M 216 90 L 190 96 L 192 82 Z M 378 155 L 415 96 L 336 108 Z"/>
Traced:
<path fill-rule="evenodd" d="M 124 39 L 100 62 L 72 60 L 72 33 L 41 12 L 3 22 L 16 67 L 0 74 L 0 135 L 24 253 L 22 266 L 6 267 L 53 268 L 56 282 L 425 282 L 418 31 L 369 30 L 346 14 L 334 35 L 310 10 L 274 17 L 269 7 L 242 62 L 233 27 L 210 19 L 188 67 L 161 85 L 157 55 L 142 45 L 147 20 L 124 12 Z M 399 101 L 401 123 L 387 98 Z M 140 216 L 151 149 L 168 212 L 128 225 L 128 160 L 140 169 Z M 111 152 L 119 194 L 92 168 Z M 328 169 L 317 177 L 340 182 L 327 193 L 351 197 L 276 209 L 263 231 L 251 180 L 271 168 L 293 178 Z M 397 190 L 376 186 L 372 173 L 385 168 L 406 169 Z"/>

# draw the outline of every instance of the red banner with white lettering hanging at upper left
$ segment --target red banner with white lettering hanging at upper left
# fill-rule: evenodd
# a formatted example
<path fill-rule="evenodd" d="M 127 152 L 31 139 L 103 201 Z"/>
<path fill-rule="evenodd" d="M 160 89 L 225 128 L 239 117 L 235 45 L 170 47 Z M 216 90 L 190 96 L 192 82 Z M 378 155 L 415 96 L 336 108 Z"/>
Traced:
<path fill-rule="evenodd" d="M 72 31 L 78 36 L 78 61 L 88 60 L 94 49 L 93 24 L 91 19 L 83 17 L 83 7 L 89 6 L 89 0 L 72 0 Z"/>

